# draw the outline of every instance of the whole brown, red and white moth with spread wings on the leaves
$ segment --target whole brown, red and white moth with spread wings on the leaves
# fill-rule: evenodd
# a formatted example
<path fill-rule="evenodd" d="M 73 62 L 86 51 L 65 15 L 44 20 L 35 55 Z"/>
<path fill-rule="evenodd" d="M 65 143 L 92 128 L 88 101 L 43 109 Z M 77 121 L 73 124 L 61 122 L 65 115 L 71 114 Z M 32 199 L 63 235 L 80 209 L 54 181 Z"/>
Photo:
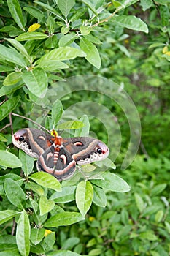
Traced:
<path fill-rule="evenodd" d="M 62 138 L 54 130 L 52 134 L 34 128 L 20 129 L 12 136 L 12 143 L 37 158 L 37 170 L 52 174 L 58 181 L 71 177 L 76 164 L 86 165 L 109 155 L 107 145 L 96 138 Z"/>

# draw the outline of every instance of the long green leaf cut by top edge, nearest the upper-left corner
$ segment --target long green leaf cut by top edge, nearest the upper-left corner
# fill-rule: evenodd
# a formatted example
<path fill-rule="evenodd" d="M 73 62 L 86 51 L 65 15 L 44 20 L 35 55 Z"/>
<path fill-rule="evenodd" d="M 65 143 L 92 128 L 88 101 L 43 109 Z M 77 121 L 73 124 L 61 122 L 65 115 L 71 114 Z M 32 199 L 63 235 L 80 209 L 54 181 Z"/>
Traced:
<path fill-rule="evenodd" d="M 24 29 L 24 19 L 23 12 L 20 8 L 20 3 L 18 0 L 7 0 L 7 5 L 9 8 L 9 12 L 12 15 L 12 18 L 15 20 L 20 29 L 25 31 Z"/>

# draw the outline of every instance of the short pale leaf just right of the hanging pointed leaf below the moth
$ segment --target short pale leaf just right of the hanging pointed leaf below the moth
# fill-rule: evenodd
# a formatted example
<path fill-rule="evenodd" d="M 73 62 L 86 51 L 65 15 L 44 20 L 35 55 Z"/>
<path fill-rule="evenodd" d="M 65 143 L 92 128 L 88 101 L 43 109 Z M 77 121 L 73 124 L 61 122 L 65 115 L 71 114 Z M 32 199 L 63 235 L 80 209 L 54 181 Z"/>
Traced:
<path fill-rule="evenodd" d="M 101 187 L 93 186 L 94 196 L 93 196 L 93 203 L 96 206 L 106 207 L 107 206 L 107 196 L 104 193 L 104 189 Z"/>

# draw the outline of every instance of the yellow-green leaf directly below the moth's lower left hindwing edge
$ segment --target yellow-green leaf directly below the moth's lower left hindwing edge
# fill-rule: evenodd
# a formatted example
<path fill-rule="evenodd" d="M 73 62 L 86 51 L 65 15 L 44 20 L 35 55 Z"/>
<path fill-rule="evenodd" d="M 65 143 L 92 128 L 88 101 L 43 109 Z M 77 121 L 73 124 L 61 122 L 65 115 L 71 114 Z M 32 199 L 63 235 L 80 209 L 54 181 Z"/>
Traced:
<path fill-rule="evenodd" d="M 54 189 L 56 191 L 61 191 L 60 182 L 57 180 L 57 178 L 50 175 L 49 173 L 43 173 L 43 172 L 34 173 L 29 178 L 36 181 L 37 184 L 43 187 Z"/>

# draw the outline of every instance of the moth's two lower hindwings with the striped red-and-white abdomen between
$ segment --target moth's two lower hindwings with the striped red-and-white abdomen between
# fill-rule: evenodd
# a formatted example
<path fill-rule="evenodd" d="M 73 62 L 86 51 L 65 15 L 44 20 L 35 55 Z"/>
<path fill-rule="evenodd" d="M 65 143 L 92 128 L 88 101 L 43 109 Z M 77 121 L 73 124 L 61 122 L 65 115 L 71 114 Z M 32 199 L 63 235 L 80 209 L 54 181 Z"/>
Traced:
<path fill-rule="evenodd" d="M 76 168 L 76 162 L 65 148 L 55 148 L 55 144 L 53 144 L 39 156 L 36 167 L 37 170 L 50 173 L 58 181 L 62 181 L 72 176 Z"/>

